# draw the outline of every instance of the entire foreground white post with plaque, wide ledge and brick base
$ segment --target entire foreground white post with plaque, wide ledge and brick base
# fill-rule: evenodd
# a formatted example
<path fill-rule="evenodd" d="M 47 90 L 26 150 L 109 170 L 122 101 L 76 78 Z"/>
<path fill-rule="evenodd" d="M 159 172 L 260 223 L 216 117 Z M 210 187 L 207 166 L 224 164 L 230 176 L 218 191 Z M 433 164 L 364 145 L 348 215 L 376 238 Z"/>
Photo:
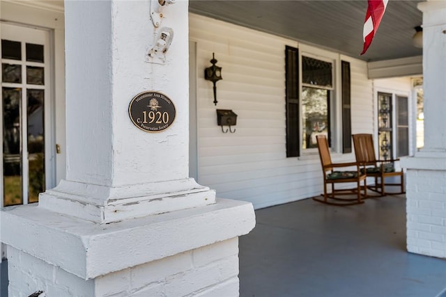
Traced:
<path fill-rule="evenodd" d="M 238 296 L 252 204 L 188 177 L 188 1 L 66 1 L 67 175 L 1 211 L 10 296 Z"/>

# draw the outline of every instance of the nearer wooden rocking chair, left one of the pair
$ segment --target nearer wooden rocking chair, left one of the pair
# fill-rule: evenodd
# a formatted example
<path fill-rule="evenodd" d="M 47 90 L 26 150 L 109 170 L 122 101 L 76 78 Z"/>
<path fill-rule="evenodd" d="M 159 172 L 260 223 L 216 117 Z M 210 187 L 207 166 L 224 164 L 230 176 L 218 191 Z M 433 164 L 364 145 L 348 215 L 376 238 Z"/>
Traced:
<path fill-rule="evenodd" d="M 316 136 L 316 141 L 323 172 L 323 194 L 321 195 L 323 196 L 323 200 L 318 197 L 314 197 L 313 200 L 339 206 L 364 203 L 361 197 L 367 197 L 366 175 L 360 172 L 360 166 L 356 162 L 332 163 L 327 137 L 325 135 L 318 135 Z M 356 170 L 334 171 L 334 168 L 351 166 L 355 166 Z M 347 182 L 355 183 L 355 188 L 334 188 L 334 184 L 344 184 Z M 361 182 L 364 182 L 364 186 L 361 186 Z M 331 184 L 331 193 L 327 191 L 328 184 Z M 361 194 L 361 189 L 364 190 L 364 195 Z M 356 198 L 342 198 L 339 195 L 356 195 Z"/>

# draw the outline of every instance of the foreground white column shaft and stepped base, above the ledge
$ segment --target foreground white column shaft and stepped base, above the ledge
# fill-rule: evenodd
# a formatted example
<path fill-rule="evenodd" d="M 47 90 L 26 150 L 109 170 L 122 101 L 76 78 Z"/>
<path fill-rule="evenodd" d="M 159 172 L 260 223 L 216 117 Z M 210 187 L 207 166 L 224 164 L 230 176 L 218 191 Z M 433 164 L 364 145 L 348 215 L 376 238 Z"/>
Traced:
<path fill-rule="evenodd" d="M 40 207 L 110 223 L 215 202 L 215 191 L 188 177 L 187 5 L 162 7 L 156 27 L 157 1 L 66 1 L 67 173 Z M 163 28 L 171 47 L 164 64 L 150 63 Z M 132 123 L 130 101 L 144 91 L 171 99 L 169 128 Z"/>

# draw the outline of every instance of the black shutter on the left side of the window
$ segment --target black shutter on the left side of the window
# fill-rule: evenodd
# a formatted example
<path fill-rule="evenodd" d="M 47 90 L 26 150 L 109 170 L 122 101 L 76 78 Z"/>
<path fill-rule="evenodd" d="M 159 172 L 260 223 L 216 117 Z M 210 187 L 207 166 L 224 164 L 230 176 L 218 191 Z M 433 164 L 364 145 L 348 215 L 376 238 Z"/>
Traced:
<path fill-rule="evenodd" d="M 285 49 L 286 156 L 300 156 L 299 145 L 299 51 Z"/>

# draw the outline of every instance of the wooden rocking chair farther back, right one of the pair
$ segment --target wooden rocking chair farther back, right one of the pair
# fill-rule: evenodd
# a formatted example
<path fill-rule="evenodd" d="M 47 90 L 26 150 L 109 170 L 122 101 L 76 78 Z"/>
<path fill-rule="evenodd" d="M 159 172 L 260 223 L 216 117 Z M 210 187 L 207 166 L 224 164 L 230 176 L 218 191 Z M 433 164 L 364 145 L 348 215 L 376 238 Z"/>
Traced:
<path fill-rule="evenodd" d="M 371 191 L 380 193 L 381 196 L 405 193 L 403 170 L 396 171 L 394 168 L 394 162 L 399 159 L 377 160 L 371 134 L 354 134 L 353 145 L 355 147 L 356 161 L 362 166 L 361 171 L 365 172 L 367 177 L 375 177 L 375 185 L 368 186 Z M 386 183 L 386 177 L 400 177 L 400 182 Z M 385 186 L 399 186 L 401 191 L 398 193 L 386 193 Z"/>

